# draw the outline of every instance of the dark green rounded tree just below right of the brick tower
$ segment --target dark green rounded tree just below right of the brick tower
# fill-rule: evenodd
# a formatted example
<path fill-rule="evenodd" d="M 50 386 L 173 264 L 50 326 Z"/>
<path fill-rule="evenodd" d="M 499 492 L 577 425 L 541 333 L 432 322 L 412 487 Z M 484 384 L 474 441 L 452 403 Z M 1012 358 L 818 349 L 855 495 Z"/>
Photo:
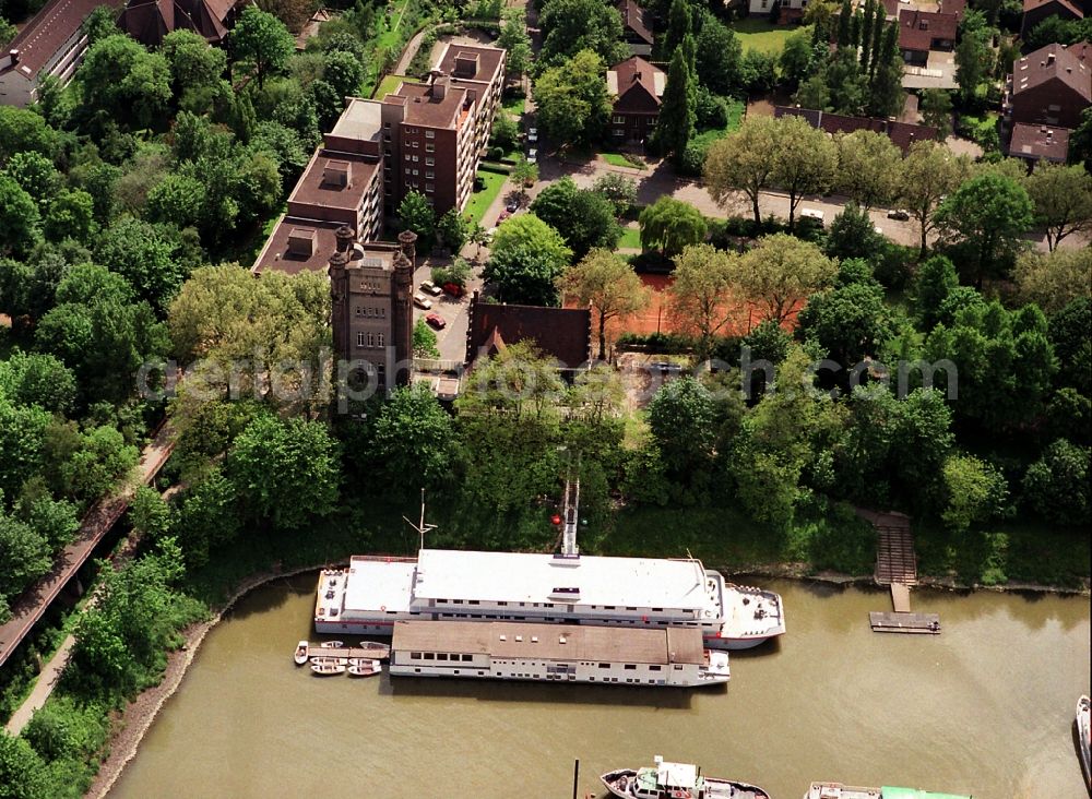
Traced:
<path fill-rule="evenodd" d="M 376 419 L 375 456 L 388 485 L 403 496 L 444 482 L 453 446 L 451 416 L 427 389 L 396 389 Z M 418 481 L 411 482 L 408 475 Z"/>

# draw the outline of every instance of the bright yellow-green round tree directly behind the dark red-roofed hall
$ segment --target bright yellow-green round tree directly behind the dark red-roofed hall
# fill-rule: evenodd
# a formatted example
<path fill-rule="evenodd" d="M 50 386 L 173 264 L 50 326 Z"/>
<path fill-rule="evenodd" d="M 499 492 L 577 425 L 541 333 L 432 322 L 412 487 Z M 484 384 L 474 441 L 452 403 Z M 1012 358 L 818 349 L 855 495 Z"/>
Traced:
<path fill-rule="evenodd" d="M 534 214 L 520 214 L 497 228 L 482 276 L 497 285 L 503 302 L 556 306 L 557 278 L 571 261 L 557 230 Z"/>

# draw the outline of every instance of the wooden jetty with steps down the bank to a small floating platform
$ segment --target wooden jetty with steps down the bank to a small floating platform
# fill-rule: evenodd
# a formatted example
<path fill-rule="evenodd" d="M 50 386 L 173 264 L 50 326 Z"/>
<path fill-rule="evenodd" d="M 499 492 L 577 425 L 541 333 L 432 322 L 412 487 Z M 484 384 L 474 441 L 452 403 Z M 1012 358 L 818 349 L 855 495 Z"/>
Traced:
<path fill-rule="evenodd" d="M 889 586 L 891 607 L 894 609 L 890 613 L 868 613 L 873 632 L 939 635 L 939 615 L 915 613 L 910 609 L 910 589 L 917 585 L 917 556 L 914 552 L 914 537 L 910 532 L 910 516 L 862 510 L 857 513 L 876 527 L 879 540 L 876 546 L 874 579 L 878 585 Z"/>

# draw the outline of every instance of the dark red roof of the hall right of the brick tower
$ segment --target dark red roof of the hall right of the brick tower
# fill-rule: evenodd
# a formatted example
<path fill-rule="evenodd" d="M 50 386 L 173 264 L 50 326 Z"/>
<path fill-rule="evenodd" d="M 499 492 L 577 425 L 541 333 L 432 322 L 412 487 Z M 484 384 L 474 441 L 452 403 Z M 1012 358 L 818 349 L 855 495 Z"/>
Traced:
<path fill-rule="evenodd" d="M 502 351 L 506 345 L 531 341 L 562 368 L 587 361 L 592 344 L 592 312 L 587 308 L 542 308 L 494 305 L 471 298 L 466 330 L 466 362 L 484 349 Z"/>

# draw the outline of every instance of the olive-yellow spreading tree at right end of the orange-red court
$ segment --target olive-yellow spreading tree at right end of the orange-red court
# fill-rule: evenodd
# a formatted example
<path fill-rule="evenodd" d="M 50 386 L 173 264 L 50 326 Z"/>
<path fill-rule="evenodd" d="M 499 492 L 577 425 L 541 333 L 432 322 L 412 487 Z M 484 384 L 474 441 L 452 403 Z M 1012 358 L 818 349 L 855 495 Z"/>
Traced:
<path fill-rule="evenodd" d="M 732 261 L 732 282 L 761 320 L 790 319 L 806 297 L 827 286 L 834 262 L 810 241 L 786 234 L 763 236 L 758 246 Z"/>

